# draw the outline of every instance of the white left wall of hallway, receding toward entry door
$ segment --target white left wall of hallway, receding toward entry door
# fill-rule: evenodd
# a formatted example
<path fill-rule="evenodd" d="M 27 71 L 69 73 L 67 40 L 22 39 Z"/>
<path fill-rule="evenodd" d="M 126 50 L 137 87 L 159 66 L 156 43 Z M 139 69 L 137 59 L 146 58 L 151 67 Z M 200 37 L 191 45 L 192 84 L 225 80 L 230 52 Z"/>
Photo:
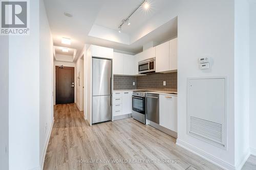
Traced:
<path fill-rule="evenodd" d="M 39 14 L 39 158 L 42 166 L 53 125 L 53 40 L 43 0 L 40 0 Z"/>

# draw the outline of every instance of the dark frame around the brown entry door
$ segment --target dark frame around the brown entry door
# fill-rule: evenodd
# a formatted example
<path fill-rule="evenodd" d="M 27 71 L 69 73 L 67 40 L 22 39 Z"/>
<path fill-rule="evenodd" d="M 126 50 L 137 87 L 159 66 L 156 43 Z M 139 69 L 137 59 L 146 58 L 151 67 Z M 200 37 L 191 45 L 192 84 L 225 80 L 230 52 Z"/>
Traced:
<path fill-rule="evenodd" d="M 73 103 L 75 103 L 75 87 L 76 87 L 76 83 L 75 83 L 75 67 L 68 67 L 68 66 L 63 66 L 63 68 L 60 68 L 60 66 L 55 66 L 55 104 L 58 104 L 57 102 L 57 98 L 58 98 L 58 69 L 72 69 L 72 79 L 73 79 L 73 82 L 74 82 L 74 88 L 73 88 Z"/>

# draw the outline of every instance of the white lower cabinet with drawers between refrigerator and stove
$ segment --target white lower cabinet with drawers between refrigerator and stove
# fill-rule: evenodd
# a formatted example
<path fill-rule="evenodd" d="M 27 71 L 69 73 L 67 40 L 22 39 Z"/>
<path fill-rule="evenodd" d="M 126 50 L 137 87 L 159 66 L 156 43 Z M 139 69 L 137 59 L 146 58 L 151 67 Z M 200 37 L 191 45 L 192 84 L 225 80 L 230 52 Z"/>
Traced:
<path fill-rule="evenodd" d="M 113 93 L 113 116 L 132 113 L 132 91 L 114 91 Z"/>

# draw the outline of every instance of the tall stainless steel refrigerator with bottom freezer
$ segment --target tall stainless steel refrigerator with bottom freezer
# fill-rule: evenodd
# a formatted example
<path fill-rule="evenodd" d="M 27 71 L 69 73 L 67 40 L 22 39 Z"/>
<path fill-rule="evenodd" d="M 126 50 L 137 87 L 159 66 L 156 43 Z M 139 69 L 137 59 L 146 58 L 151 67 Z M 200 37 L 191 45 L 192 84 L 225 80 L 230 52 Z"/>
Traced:
<path fill-rule="evenodd" d="M 92 59 L 92 123 L 112 119 L 112 60 Z"/>

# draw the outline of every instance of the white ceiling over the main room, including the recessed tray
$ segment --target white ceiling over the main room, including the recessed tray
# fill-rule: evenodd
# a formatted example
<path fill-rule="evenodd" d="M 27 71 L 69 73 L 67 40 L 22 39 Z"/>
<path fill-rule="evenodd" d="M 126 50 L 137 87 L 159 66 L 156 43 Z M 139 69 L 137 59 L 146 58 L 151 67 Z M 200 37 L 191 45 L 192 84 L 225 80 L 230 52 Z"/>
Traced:
<path fill-rule="evenodd" d="M 66 46 L 77 49 L 80 54 L 85 43 L 112 47 L 116 50 L 138 53 L 142 50 L 142 45 L 149 41 L 162 42 L 171 37 L 177 36 L 177 19 L 175 22 L 169 21 L 166 27 L 159 27 L 155 31 L 143 36 L 132 43 L 120 43 L 114 39 L 106 39 L 101 36 L 89 36 L 93 25 L 101 26 L 109 30 L 117 31 L 121 20 L 127 17 L 142 0 L 44 0 L 46 11 L 56 46 Z M 139 8 L 130 18 L 131 25 L 123 26 L 122 33 L 133 36 L 139 28 L 159 12 L 162 12 L 168 5 L 169 0 L 150 0 L 150 10 L 145 11 Z M 67 17 L 63 13 L 67 12 L 73 17 Z M 117 34 L 118 36 L 118 34 Z M 67 37 L 72 40 L 71 45 L 61 44 L 61 38 Z M 76 60 L 75 58 L 75 60 Z"/>

